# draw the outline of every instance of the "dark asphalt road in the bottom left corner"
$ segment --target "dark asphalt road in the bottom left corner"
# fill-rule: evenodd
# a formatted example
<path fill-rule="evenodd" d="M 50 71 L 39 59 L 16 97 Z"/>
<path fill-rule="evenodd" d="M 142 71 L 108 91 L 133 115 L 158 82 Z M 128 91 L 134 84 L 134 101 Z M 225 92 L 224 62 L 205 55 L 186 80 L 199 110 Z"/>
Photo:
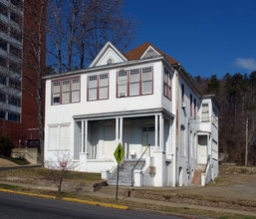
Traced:
<path fill-rule="evenodd" d="M 179 218 L 0 192 L 0 218 Z"/>

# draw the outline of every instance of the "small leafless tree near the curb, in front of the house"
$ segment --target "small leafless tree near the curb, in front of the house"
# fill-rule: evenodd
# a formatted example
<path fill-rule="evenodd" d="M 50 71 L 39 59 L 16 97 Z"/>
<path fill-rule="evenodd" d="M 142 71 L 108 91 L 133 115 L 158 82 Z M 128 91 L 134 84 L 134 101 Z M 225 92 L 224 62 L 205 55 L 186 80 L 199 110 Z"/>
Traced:
<path fill-rule="evenodd" d="M 74 170 L 77 165 L 73 162 L 69 151 L 56 152 L 56 158 L 45 161 L 45 167 L 58 188 L 58 192 L 62 192 L 62 185 L 65 177 L 70 170 Z"/>

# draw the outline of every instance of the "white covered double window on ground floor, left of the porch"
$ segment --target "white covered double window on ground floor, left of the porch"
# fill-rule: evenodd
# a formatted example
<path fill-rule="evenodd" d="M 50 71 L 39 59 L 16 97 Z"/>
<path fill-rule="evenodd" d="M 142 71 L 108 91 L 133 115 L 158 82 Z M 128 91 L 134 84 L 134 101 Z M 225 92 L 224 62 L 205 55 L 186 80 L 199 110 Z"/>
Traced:
<path fill-rule="evenodd" d="M 48 150 L 70 148 L 70 124 L 49 126 Z"/>

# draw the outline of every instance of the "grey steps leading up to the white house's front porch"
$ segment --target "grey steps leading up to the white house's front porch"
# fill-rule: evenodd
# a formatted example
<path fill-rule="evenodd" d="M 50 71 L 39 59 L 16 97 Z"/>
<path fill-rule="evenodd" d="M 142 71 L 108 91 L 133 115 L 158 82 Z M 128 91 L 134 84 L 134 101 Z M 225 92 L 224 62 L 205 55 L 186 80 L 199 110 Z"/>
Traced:
<path fill-rule="evenodd" d="M 135 165 L 136 160 L 124 160 L 120 164 L 120 174 L 119 174 L 119 185 L 131 185 L 131 169 Z M 144 166 L 144 161 L 140 160 L 135 169 L 142 169 Z M 118 167 L 111 173 L 110 179 L 108 180 L 109 185 L 117 185 Z"/>

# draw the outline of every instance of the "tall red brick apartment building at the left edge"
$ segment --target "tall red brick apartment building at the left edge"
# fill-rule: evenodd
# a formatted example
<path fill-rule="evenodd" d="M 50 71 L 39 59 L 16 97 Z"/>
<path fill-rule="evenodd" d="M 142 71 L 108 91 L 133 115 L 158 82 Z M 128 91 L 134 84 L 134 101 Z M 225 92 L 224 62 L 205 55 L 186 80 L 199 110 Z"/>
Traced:
<path fill-rule="evenodd" d="M 0 136 L 12 138 L 15 147 L 38 143 L 38 108 L 25 90 L 28 86 L 24 73 L 28 50 L 24 46 L 24 31 L 33 21 L 26 10 L 27 0 L 0 0 Z M 25 6 L 25 7 L 24 7 Z M 36 27 L 35 27 L 36 28 Z"/>

